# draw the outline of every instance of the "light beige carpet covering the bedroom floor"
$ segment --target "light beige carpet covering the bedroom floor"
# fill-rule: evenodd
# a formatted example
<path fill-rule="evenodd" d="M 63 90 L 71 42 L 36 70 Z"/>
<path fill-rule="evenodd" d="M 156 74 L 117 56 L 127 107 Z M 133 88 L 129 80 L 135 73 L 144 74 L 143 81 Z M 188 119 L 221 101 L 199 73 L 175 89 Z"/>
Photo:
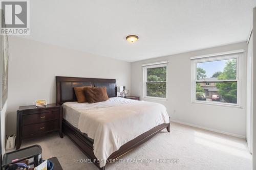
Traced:
<path fill-rule="evenodd" d="M 121 157 L 122 163 L 108 164 L 106 169 L 251 169 L 245 139 L 177 123 L 172 123 L 171 130 L 163 130 Z M 97 169 L 92 163 L 77 163 L 87 157 L 67 136 L 61 139 L 52 133 L 24 141 L 22 148 L 36 143 L 41 145 L 44 159 L 56 156 L 63 169 Z"/>

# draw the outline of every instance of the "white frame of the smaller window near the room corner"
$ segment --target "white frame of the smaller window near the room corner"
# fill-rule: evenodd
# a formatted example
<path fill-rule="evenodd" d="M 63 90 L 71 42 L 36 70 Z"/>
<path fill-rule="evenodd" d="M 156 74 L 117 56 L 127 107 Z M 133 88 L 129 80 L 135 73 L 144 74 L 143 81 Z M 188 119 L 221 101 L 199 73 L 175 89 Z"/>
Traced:
<path fill-rule="evenodd" d="M 165 98 L 158 98 L 154 96 L 147 96 L 146 95 L 146 83 L 152 83 L 152 82 L 147 82 L 147 68 L 157 68 L 157 67 L 166 67 L 166 81 L 165 82 L 154 82 L 154 83 L 166 83 L 166 97 Z M 167 100 L 168 96 L 168 62 L 158 62 L 158 63 L 150 63 L 150 64 L 144 64 L 142 65 L 143 69 L 143 98 L 146 99 L 157 99 L 157 100 Z"/>

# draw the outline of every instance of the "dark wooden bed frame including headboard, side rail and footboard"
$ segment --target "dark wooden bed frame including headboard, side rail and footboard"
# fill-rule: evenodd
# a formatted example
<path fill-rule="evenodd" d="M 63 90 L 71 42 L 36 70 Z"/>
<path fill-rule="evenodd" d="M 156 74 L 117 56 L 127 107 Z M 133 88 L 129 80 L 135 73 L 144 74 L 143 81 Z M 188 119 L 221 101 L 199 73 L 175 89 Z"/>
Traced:
<path fill-rule="evenodd" d="M 77 86 L 88 86 L 92 85 L 95 87 L 106 86 L 109 97 L 116 96 L 116 80 L 115 79 L 94 79 L 94 78 L 74 78 L 74 77 L 56 77 L 56 88 L 57 88 L 57 103 L 62 105 L 65 102 L 77 101 L 73 87 Z M 86 134 L 81 133 L 77 128 L 72 126 L 67 120 L 63 119 L 63 132 L 77 145 L 77 147 L 94 162 L 94 164 L 99 168 L 104 170 L 104 167 L 99 167 L 98 159 L 93 153 L 93 139 L 89 138 Z M 161 124 L 151 130 L 139 135 L 135 139 L 123 144 L 119 150 L 112 153 L 108 160 L 114 160 L 124 155 L 125 153 L 131 151 L 138 145 L 146 142 L 148 139 L 152 138 L 158 132 L 164 128 L 170 132 L 170 124 Z M 110 162 L 107 162 L 110 163 Z"/>

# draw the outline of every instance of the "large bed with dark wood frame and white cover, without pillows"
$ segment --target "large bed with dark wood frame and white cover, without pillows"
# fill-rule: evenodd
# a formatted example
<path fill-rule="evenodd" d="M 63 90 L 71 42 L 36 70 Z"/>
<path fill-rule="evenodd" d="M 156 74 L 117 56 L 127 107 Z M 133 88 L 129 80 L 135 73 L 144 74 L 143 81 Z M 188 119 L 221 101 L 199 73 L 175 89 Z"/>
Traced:
<path fill-rule="evenodd" d="M 73 87 L 78 86 L 104 86 L 107 89 L 110 100 L 95 104 L 78 104 L 73 91 Z M 111 160 L 117 159 L 131 151 L 138 145 L 152 138 L 161 130 L 166 128 L 167 131 L 170 132 L 169 117 L 167 121 L 166 114 L 163 113 L 164 109 L 160 104 L 117 98 L 115 79 L 56 77 L 56 88 L 57 103 L 62 105 L 64 110 L 62 124 L 63 133 L 65 133 L 99 169 L 105 169 L 106 163 L 110 163 Z M 147 107 L 142 107 L 146 105 Z M 161 116 L 159 116 L 159 120 L 154 118 L 154 116 L 156 116 L 154 112 L 157 112 L 158 108 L 154 110 L 153 105 L 159 107 L 160 110 L 162 109 L 159 114 L 163 117 L 164 123 L 161 123 Z M 152 107 L 153 113 L 147 112 L 144 114 L 143 108 L 148 107 Z M 120 112 L 120 110 L 122 111 Z M 104 114 L 102 114 L 103 112 Z M 138 114 L 137 112 L 143 114 Z M 148 120 L 145 120 L 145 116 L 148 117 Z M 150 118 L 152 116 L 153 118 Z M 120 118 L 118 119 L 118 117 Z M 109 123 L 109 119 L 113 122 L 115 120 L 116 122 Z M 106 120 L 108 120 L 108 124 L 106 124 Z M 120 120 L 127 121 L 127 125 L 120 122 Z M 145 121 L 150 122 L 148 123 L 148 127 L 142 126 L 143 121 L 144 124 Z M 133 133 L 125 132 L 125 130 L 120 131 L 119 129 L 122 128 L 122 125 L 123 128 L 127 129 L 127 127 L 131 127 L 130 129 L 136 130 L 137 128 L 137 130 Z M 104 142 L 104 140 L 118 140 L 118 142 L 113 142 L 112 145 L 109 146 L 105 144 L 108 142 Z M 105 150 L 102 151 L 102 149 Z M 111 151 L 109 151 L 110 149 Z M 109 153 L 101 157 L 101 153 L 105 153 L 106 150 L 109 151 Z M 99 160 L 104 160 L 104 163 Z"/>

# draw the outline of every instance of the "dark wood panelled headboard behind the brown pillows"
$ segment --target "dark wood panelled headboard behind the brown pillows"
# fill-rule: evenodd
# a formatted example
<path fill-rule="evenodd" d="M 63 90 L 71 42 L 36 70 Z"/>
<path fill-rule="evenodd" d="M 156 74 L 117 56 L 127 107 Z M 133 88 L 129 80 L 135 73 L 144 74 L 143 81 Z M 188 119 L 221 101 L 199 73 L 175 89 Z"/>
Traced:
<path fill-rule="evenodd" d="M 109 98 L 116 97 L 116 79 L 95 79 L 78 77 L 56 76 L 56 102 L 62 105 L 65 102 L 77 101 L 73 87 L 79 86 L 106 87 Z"/>

